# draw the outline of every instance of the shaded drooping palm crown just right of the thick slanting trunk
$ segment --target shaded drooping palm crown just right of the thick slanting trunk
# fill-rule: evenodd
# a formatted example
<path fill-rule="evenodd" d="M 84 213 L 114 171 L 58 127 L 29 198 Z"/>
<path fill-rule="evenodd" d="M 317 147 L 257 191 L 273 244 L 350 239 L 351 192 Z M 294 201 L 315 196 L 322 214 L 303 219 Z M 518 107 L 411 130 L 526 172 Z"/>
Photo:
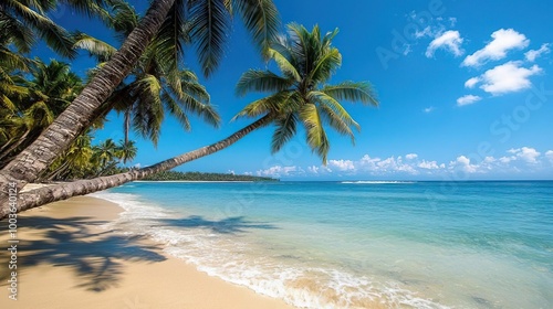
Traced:
<path fill-rule="evenodd" d="M 139 15 L 128 4 L 117 6 L 114 11 L 114 29 L 118 36 L 128 36 L 138 24 Z M 174 25 L 181 30 L 179 38 L 182 43 L 189 43 L 189 31 L 184 29 L 189 28 L 189 24 Z M 209 94 L 206 88 L 194 72 L 180 68 L 181 60 L 167 56 L 175 50 L 174 45 L 169 45 L 171 47 L 167 50 L 165 42 L 166 36 L 161 31 L 138 60 L 127 78 L 129 82 L 125 81 L 119 85 L 105 103 L 125 116 L 125 143 L 128 142 L 128 134 L 133 128 L 142 137 L 157 145 L 166 111 L 174 116 L 185 130 L 190 130 L 188 113 L 202 117 L 215 127 L 220 122 L 219 115 L 209 105 Z M 97 45 L 102 46 L 102 44 L 91 44 L 85 47 L 100 58 L 108 58 L 111 56 L 108 49 L 98 51 Z"/>

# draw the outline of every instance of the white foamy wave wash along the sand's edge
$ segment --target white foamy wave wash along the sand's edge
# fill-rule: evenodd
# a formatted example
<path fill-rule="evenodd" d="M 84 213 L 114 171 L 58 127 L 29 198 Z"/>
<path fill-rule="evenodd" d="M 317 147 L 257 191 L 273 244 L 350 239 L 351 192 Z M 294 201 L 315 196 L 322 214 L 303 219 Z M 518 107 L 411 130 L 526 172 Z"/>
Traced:
<path fill-rule="evenodd" d="M 95 193 L 125 211 L 116 224 L 125 234 L 147 235 L 165 245 L 165 252 L 200 271 L 258 294 L 281 298 L 300 308 L 366 308 L 372 305 L 407 308 L 447 308 L 400 287 L 347 270 L 286 260 L 259 252 L 248 238 L 215 233 L 209 226 L 195 228 L 164 224 L 173 213 L 127 193 Z"/>

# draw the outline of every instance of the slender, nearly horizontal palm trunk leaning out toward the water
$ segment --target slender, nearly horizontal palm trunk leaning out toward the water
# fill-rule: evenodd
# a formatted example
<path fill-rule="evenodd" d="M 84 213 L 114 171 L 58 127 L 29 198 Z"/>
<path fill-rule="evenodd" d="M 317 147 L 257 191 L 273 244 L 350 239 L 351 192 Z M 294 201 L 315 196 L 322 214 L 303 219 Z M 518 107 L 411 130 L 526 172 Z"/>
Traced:
<path fill-rule="evenodd" d="M 131 170 L 128 172 L 108 177 L 100 177 L 95 179 L 79 180 L 70 183 L 44 187 L 25 193 L 21 193 L 19 195 L 15 212 L 19 213 L 55 201 L 66 200 L 72 196 L 85 195 L 88 193 L 106 190 L 109 188 L 122 185 L 129 181 L 140 180 L 160 171 L 170 170 L 186 162 L 190 162 L 201 157 L 218 152 L 233 145 L 249 132 L 270 124 L 272 120 L 273 116 L 267 115 L 255 122 L 242 128 L 241 130 L 236 131 L 233 135 L 227 137 L 226 139 L 222 139 L 210 146 L 206 146 L 190 152 L 186 152 L 178 157 L 161 161 L 152 167 L 139 170 Z M 11 210 L 7 205 L 3 205 L 0 210 L 0 220 L 7 217 L 10 213 L 13 213 L 10 211 Z"/>

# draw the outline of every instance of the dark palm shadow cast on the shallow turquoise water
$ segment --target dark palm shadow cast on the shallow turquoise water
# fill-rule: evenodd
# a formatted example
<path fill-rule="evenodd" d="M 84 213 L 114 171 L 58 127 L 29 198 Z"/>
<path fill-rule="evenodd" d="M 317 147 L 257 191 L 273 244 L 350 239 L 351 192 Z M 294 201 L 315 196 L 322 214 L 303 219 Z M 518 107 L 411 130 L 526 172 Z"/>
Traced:
<path fill-rule="evenodd" d="M 182 219 L 163 219 L 158 221 L 160 226 L 175 226 L 186 228 L 209 228 L 213 233 L 220 234 L 240 234 L 248 230 L 276 230 L 279 227 L 260 222 L 247 221 L 244 216 L 233 216 L 223 220 L 206 220 L 199 215 L 191 215 Z"/>

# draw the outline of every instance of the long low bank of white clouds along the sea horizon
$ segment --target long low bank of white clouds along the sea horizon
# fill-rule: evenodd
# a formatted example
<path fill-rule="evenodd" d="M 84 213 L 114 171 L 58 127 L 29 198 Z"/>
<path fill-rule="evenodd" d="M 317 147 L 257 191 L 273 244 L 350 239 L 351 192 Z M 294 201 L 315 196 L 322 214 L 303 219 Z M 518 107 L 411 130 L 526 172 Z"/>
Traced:
<path fill-rule="evenodd" d="M 332 169 L 331 169 L 332 167 Z M 416 153 L 405 156 L 392 156 L 385 159 L 372 158 L 368 154 L 358 160 L 340 159 L 328 160 L 328 166 L 301 167 L 274 166 L 265 170 L 257 171 L 257 175 L 267 177 L 332 177 L 332 175 L 372 175 L 372 177 L 416 177 L 421 179 L 450 179 L 451 177 L 482 178 L 490 175 L 508 174 L 515 178 L 517 174 L 529 175 L 534 172 L 553 174 L 553 150 L 542 153 L 532 147 L 513 148 L 498 157 L 474 157 L 472 154 L 460 154 L 453 160 L 442 163 L 436 160 L 420 158 Z M 251 174 L 251 173 L 244 173 Z"/>

